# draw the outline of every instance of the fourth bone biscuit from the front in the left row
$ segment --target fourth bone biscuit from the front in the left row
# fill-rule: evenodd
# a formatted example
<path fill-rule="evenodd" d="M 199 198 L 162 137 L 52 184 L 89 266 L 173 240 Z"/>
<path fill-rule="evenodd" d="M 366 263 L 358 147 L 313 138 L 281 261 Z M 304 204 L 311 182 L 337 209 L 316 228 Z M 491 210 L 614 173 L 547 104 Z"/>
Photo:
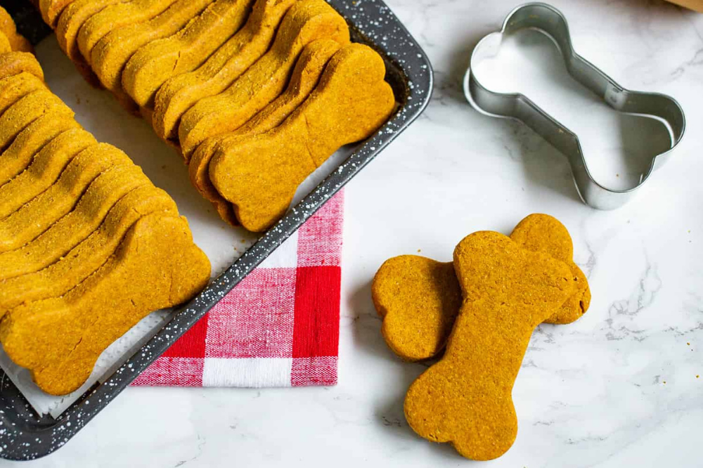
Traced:
<path fill-rule="evenodd" d="M 95 184 L 93 191 L 99 192 L 98 197 L 114 196 L 110 191 L 122 190 L 122 188 L 116 188 L 114 184 L 110 185 L 108 182 L 116 179 L 117 182 L 126 184 L 131 183 L 131 178 L 136 177 L 133 171 L 132 176 L 127 177 L 127 180 L 124 180 L 125 177 L 120 178 L 119 176 L 125 175 L 124 171 L 115 169 L 123 165 L 134 166 L 124 152 L 105 143 L 98 143 L 79 153 L 53 186 L 0 221 L 0 252 L 19 249 L 27 242 L 36 239 L 58 219 L 71 212 L 79 200 L 82 200 L 82 194 L 87 193 L 86 188 L 90 190 L 93 182 L 98 182 L 101 175 L 105 177 Z M 105 174 L 102 174 L 103 172 Z M 108 174 L 109 172 L 112 174 Z M 93 207 L 94 203 L 90 204 L 91 200 L 95 199 L 86 198 L 84 202 L 86 207 Z M 103 198 L 99 201 L 103 202 Z"/>

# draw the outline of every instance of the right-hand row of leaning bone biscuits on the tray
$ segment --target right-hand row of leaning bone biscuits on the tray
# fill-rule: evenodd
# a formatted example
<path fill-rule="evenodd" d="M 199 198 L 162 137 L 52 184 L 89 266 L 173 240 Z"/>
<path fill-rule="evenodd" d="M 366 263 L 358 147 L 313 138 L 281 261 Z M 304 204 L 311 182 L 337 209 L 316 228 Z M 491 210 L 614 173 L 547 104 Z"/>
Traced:
<path fill-rule="evenodd" d="M 262 231 L 390 116 L 385 64 L 324 0 L 40 0 L 60 47 L 178 148 L 222 219 Z"/>

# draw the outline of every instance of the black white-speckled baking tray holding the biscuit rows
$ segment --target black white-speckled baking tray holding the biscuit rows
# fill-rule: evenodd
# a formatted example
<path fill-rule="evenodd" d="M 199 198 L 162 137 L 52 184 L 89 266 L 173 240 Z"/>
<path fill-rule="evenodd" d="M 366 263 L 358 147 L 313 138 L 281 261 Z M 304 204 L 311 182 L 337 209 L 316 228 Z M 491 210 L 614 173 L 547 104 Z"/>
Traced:
<path fill-rule="evenodd" d="M 162 330 L 122 367 L 103 384 L 91 387 L 58 418 L 37 415 L 0 370 L 0 457 L 32 460 L 49 455 L 67 443 L 423 112 L 432 94 L 432 66 L 423 49 L 392 11 L 381 0 L 328 0 L 328 3 L 349 23 L 353 41 L 368 44 L 383 56 L 387 82 L 399 103 L 392 118 L 368 140 L 356 144 L 347 160 L 292 207 L 198 297 L 177 309 Z M 15 18 L 18 30 L 34 44 L 51 33 L 27 0 L 3 1 L 3 6 Z"/>

